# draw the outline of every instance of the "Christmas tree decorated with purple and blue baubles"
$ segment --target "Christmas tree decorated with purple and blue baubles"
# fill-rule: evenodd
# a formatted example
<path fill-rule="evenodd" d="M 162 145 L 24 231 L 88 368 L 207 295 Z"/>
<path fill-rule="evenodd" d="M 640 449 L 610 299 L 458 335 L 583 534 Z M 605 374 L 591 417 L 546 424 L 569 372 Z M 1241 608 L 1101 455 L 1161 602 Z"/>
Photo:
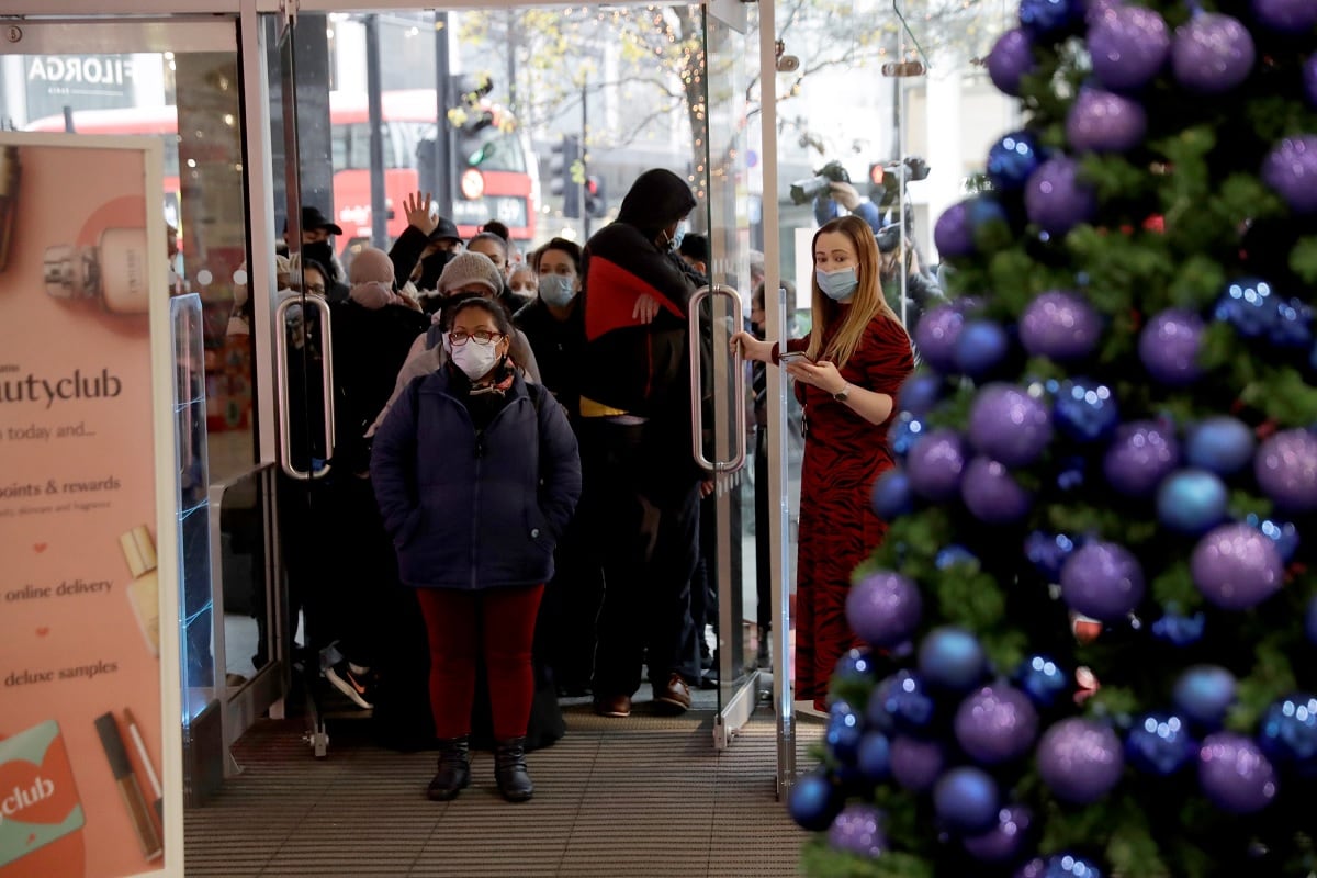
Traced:
<path fill-rule="evenodd" d="M 1022 0 L 814 875 L 1317 874 L 1317 0 Z"/>

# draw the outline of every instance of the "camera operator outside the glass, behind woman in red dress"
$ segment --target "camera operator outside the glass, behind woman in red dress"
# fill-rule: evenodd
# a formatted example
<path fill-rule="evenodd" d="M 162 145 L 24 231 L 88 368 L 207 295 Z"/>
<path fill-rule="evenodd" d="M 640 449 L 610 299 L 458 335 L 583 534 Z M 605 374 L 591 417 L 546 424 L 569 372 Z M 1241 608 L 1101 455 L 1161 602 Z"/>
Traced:
<path fill-rule="evenodd" d="M 831 180 L 828 191 L 819 194 L 814 199 L 814 219 L 824 224 L 842 215 L 840 208 L 846 208 L 853 216 L 864 220 L 873 237 L 878 242 L 880 269 L 878 278 L 882 282 L 882 295 L 897 315 L 902 317 L 909 330 L 919 324 L 923 312 L 946 301 L 942 286 L 938 279 L 923 269 L 919 258 L 919 249 L 911 236 L 910 225 L 906 225 L 905 259 L 901 258 L 901 225 L 900 222 L 882 224 L 882 213 L 878 205 L 863 197 L 853 186 L 847 182 Z M 901 311 L 901 275 L 900 266 L 905 262 L 905 311 Z"/>

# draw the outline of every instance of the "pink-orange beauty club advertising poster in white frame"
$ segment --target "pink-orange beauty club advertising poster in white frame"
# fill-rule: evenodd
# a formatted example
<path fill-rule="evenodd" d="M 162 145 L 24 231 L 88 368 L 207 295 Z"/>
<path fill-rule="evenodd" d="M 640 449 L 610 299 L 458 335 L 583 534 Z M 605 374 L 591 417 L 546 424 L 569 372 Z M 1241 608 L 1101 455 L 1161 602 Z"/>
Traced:
<path fill-rule="evenodd" d="M 0 134 L 0 878 L 182 861 L 159 168 Z"/>

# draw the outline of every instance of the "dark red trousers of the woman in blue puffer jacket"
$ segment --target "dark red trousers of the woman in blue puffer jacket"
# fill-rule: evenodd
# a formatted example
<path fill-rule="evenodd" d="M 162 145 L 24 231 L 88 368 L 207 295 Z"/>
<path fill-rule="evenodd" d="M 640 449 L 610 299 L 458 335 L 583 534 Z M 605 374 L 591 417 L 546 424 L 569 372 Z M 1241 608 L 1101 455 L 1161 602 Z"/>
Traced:
<path fill-rule="evenodd" d="M 531 644 L 544 586 L 456 591 L 417 588 L 429 637 L 429 710 L 437 737 L 471 731 L 475 662 L 483 650 L 494 738 L 525 735 L 535 696 Z"/>

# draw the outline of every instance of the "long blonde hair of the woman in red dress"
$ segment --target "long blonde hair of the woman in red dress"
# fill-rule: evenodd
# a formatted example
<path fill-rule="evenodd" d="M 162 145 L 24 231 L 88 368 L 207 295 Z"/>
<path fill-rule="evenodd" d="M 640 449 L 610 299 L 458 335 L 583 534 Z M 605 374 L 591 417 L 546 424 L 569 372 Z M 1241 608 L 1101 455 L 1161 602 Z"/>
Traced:
<path fill-rule="evenodd" d="M 878 279 L 878 244 L 873 238 L 869 224 L 857 216 L 842 216 L 824 222 L 814 233 L 814 241 L 810 244 L 811 257 L 818 246 L 819 236 L 828 232 L 839 232 L 851 240 L 851 245 L 859 255 L 859 263 L 855 269 L 859 286 L 849 299 L 849 305 L 843 309 L 840 303 L 826 296 L 819 288 L 817 270 L 811 272 L 814 325 L 810 329 L 810 344 L 805 353 L 815 362 L 826 359 L 842 369 L 851 359 L 855 349 L 860 346 L 860 338 L 864 337 L 864 329 L 869 321 L 878 315 L 894 320 L 897 324 L 901 324 L 901 319 L 892 311 L 892 305 L 882 295 L 882 282 Z M 844 315 L 842 325 L 836 328 L 836 333 L 832 334 L 827 349 L 824 349 L 823 333 L 839 313 Z"/>

